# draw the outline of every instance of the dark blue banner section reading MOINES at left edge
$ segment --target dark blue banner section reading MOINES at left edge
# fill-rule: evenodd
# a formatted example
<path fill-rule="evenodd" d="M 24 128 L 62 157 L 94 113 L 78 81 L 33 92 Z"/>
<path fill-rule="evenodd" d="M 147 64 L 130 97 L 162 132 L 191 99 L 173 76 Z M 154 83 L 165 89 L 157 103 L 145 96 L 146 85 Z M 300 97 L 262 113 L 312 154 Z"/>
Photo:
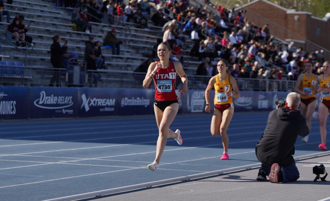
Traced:
<path fill-rule="evenodd" d="M 0 87 L 0 119 L 22 119 L 29 117 L 29 87 Z"/>

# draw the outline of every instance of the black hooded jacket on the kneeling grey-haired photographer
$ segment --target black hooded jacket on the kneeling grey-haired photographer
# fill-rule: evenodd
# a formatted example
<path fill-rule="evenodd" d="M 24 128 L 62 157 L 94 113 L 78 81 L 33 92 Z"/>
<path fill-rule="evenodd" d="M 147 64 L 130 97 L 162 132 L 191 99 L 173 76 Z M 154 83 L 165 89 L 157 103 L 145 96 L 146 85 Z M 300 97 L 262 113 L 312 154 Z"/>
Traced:
<path fill-rule="evenodd" d="M 306 119 L 299 110 L 279 108 L 270 112 L 263 135 L 255 147 L 258 160 L 272 166 L 288 167 L 294 163 L 294 144 L 298 135 L 309 134 Z"/>

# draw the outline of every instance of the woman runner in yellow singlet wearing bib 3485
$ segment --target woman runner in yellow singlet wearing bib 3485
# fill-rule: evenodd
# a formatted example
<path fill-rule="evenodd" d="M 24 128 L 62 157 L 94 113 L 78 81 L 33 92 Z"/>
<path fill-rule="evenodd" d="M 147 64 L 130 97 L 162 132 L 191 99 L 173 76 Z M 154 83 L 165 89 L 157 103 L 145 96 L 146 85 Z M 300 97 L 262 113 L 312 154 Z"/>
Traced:
<path fill-rule="evenodd" d="M 223 145 L 223 155 L 221 160 L 228 160 L 228 135 L 227 129 L 231 118 L 234 115 L 233 98 L 240 97 L 240 93 L 233 76 L 227 74 L 228 64 L 225 60 L 220 60 L 217 64 L 218 74 L 213 76 L 205 90 L 206 106 L 205 111 L 210 112 L 210 91 L 215 88 L 214 113 L 211 121 L 211 134 L 216 137 L 219 132 Z M 232 92 L 234 90 L 234 92 Z"/>

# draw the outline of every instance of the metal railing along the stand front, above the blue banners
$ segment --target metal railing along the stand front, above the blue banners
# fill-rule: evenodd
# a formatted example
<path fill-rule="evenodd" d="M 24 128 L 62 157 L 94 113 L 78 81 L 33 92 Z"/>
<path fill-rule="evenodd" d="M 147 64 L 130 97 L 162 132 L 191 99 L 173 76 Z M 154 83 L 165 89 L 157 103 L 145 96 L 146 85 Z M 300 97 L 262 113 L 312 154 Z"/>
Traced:
<path fill-rule="evenodd" d="M 71 64 L 70 64 L 71 63 Z M 84 60 L 69 60 L 68 67 L 0 66 L 0 85 L 85 86 L 100 88 L 142 88 L 146 73 L 116 70 L 87 70 Z M 205 90 L 211 77 L 187 75 L 189 89 Z M 236 78 L 240 90 L 293 91 L 296 81 Z M 180 78 L 177 88 L 182 85 Z M 153 88 L 150 84 L 149 88 Z"/>

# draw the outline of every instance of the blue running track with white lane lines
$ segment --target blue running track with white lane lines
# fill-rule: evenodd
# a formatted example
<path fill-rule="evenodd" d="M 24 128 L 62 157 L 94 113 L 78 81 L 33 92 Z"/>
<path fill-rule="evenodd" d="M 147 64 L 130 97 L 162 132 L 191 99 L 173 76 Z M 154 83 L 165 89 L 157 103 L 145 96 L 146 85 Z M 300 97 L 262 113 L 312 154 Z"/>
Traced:
<path fill-rule="evenodd" d="M 254 148 L 267 113 L 235 113 L 228 129 L 230 160 L 220 160 L 211 114 L 177 116 L 183 145 L 169 139 L 155 172 L 158 129 L 153 116 L 0 122 L 1 200 L 46 200 L 257 163 Z M 330 123 L 328 122 L 330 126 Z M 319 122 L 296 154 L 319 152 Z"/>

